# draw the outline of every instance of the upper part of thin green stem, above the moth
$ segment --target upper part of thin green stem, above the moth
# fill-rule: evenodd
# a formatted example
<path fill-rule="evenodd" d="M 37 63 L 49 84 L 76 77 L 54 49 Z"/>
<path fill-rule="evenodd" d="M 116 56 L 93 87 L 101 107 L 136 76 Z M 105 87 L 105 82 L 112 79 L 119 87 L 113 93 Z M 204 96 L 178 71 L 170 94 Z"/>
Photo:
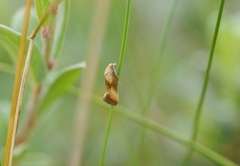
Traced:
<path fill-rule="evenodd" d="M 123 64 L 126 45 L 127 45 L 127 36 L 128 36 L 129 21 L 130 21 L 130 10 L 131 10 L 131 0 L 128 0 L 127 1 L 126 14 L 125 14 L 125 23 L 124 23 L 124 30 L 123 30 L 122 46 L 121 46 L 121 52 L 120 52 L 120 57 L 119 57 L 119 61 L 118 61 L 118 71 L 117 71 L 118 77 L 120 77 L 120 75 L 121 75 L 122 64 Z"/>

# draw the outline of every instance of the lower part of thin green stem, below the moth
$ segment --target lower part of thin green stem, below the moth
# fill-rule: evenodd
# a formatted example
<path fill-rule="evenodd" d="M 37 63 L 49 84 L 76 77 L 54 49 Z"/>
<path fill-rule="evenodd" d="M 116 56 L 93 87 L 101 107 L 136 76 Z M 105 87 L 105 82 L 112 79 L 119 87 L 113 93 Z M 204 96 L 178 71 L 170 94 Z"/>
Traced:
<path fill-rule="evenodd" d="M 100 161 L 100 166 L 104 166 L 105 163 L 105 155 L 106 155 L 106 150 L 107 150 L 107 143 L 108 143 L 108 138 L 109 138 L 109 133 L 110 133 L 110 128 L 111 128 L 111 123 L 112 123 L 112 116 L 114 112 L 114 107 L 110 107 L 110 113 L 108 116 L 108 123 L 107 123 L 107 131 L 104 139 L 104 144 L 103 144 L 103 150 L 102 150 L 102 157 Z"/>

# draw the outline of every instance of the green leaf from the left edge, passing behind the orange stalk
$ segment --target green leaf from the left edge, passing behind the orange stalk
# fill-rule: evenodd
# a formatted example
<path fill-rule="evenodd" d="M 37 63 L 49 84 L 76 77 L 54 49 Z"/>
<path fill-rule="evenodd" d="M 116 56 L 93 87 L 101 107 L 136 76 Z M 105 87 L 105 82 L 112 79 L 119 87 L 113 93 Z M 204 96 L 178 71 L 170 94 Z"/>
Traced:
<path fill-rule="evenodd" d="M 9 55 L 11 56 L 12 60 L 15 63 L 17 61 L 20 39 L 21 39 L 20 33 L 4 25 L 0 25 L 0 42 L 8 51 Z M 27 43 L 27 48 L 28 44 L 29 40 Z M 33 83 L 41 83 L 45 79 L 46 73 L 47 66 L 43 60 L 43 57 L 41 56 L 39 49 L 36 46 L 34 46 L 30 66 L 30 75 Z"/>

